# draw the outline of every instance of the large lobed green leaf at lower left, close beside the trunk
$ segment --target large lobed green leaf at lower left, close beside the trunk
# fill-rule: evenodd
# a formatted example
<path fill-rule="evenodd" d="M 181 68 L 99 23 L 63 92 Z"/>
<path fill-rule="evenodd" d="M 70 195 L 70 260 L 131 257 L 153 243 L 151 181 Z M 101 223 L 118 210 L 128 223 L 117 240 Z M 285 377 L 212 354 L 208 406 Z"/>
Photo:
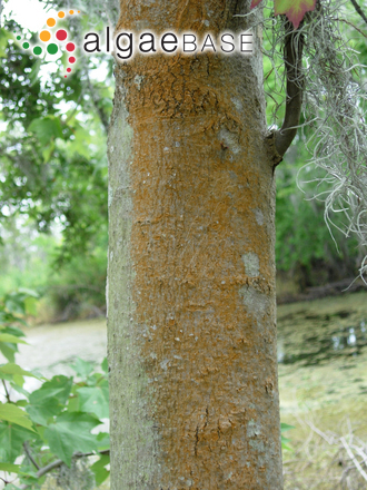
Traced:
<path fill-rule="evenodd" d="M 99 424 L 99 420 L 86 413 L 65 412 L 57 418 L 54 424 L 44 429 L 44 438 L 50 450 L 70 467 L 73 452 L 98 449 L 97 437 L 90 431 Z"/>

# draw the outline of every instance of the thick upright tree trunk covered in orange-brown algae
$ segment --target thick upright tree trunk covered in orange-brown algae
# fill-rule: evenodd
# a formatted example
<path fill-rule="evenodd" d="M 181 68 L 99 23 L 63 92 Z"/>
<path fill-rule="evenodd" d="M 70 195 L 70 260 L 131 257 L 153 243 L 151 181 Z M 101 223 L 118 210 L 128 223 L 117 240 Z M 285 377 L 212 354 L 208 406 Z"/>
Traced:
<path fill-rule="evenodd" d="M 249 3 L 121 0 L 118 28 L 245 31 L 234 14 Z M 250 57 L 137 55 L 116 69 L 112 490 L 282 488 L 274 149 L 254 38 Z"/>

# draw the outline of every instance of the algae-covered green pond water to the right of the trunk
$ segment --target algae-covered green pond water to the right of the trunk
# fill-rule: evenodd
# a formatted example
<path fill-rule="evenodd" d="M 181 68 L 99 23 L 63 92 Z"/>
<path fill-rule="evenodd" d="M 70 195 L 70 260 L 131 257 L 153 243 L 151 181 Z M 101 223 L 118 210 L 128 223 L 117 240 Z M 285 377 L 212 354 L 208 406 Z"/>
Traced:
<path fill-rule="evenodd" d="M 284 412 L 367 402 L 367 294 L 278 307 Z"/>

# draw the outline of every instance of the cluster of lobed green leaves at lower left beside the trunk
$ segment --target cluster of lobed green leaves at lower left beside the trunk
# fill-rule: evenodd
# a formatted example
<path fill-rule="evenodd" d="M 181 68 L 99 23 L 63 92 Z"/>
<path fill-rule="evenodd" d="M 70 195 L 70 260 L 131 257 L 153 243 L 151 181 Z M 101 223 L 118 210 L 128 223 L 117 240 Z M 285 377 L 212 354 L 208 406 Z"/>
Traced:
<path fill-rule="evenodd" d="M 78 359 L 71 366 L 77 381 L 65 375 L 46 380 L 16 364 L 18 344 L 26 343 L 19 323 L 24 324 L 36 298 L 36 293 L 23 290 L 0 301 L 0 352 L 9 361 L 0 364 L 4 389 L 4 403 L 0 402 L 0 461 L 4 462 L 0 471 L 18 474 L 19 489 L 36 489 L 47 473 L 75 474 L 77 460 L 97 455 L 99 460 L 87 467 L 88 488 L 93 488 L 109 476 L 109 435 L 92 433 L 102 423 L 100 419 L 109 416 L 107 360 L 102 372 L 96 372 L 93 364 Z M 24 378 L 37 379 L 40 388 L 29 393 Z M 14 464 L 21 455 L 21 463 Z M 11 483 L 2 480 L 6 486 Z"/>

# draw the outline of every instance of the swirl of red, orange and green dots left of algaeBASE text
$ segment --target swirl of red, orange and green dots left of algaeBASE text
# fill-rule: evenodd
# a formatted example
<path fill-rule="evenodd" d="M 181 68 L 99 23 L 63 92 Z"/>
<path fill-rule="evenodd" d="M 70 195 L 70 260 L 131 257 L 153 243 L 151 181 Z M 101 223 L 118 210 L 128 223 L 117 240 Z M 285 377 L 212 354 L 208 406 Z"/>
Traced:
<path fill-rule="evenodd" d="M 27 39 L 22 40 L 22 36 L 20 36 L 17 31 L 14 35 L 17 36 L 17 40 L 22 43 L 22 48 L 24 50 L 30 50 L 32 55 L 37 57 L 43 56 L 46 52 L 49 55 L 57 55 L 59 50 L 67 51 L 69 65 L 67 68 L 67 74 L 71 74 L 71 67 L 77 61 L 75 53 L 76 45 L 70 41 L 69 32 L 63 28 L 59 29 L 57 24 L 66 17 L 76 16 L 78 13 L 80 13 L 80 10 L 69 10 L 68 12 L 60 10 L 57 13 L 57 17 L 49 17 L 46 21 L 47 26 L 38 36 L 41 43 L 31 45 Z M 65 75 L 65 78 L 67 77 L 68 75 Z"/>

